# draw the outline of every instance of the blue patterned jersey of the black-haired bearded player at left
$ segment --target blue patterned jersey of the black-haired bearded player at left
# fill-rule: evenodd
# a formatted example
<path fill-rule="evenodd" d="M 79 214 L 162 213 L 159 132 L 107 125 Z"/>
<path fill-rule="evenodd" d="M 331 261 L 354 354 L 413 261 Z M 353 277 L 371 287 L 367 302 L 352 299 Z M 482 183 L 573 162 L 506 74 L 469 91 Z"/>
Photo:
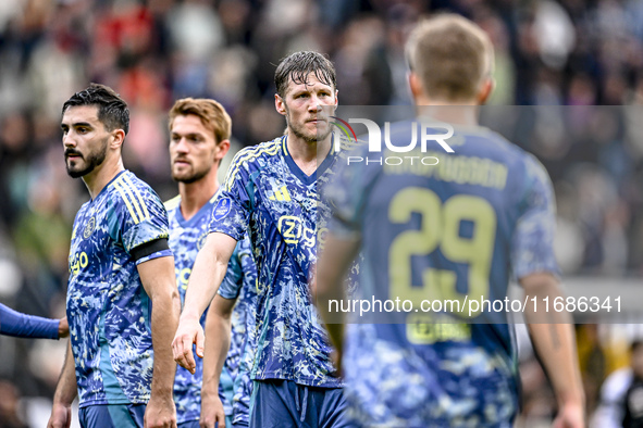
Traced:
<path fill-rule="evenodd" d="M 128 171 L 76 214 L 66 312 L 81 407 L 149 401 L 151 304 L 136 266 L 172 252 L 157 251 L 136 262 L 131 253 L 160 238 L 168 238 L 165 209 Z"/>

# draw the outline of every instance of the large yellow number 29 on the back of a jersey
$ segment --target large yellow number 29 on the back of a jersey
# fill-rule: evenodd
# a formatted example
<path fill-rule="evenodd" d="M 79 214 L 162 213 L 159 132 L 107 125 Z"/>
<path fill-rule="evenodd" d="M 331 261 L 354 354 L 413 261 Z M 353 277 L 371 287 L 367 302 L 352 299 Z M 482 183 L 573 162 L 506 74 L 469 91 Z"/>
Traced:
<path fill-rule="evenodd" d="M 421 227 L 399 234 L 391 244 L 391 295 L 407 299 L 420 306 L 422 300 L 457 300 L 460 315 L 469 316 L 463 307 L 465 298 L 480 299 L 489 295 L 491 262 L 493 257 L 496 214 L 491 204 L 479 197 L 458 194 L 444 203 L 435 192 L 420 187 L 404 189 L 391 201 L 388 218 L 395 224 L 408 223 L 412 213 L 421 215 Z M 473 223 L 471 238 L 460 237 L 460 223 Z M 428 268 L 422 273 L 422 287 L 411 281 L 411 256 L 429 255 L 440 248 L 445 257 L 469 265 L 468 292 L 456 290 L 456 273 Z M 471 317 L 478 313 L 472 313 Z"/>

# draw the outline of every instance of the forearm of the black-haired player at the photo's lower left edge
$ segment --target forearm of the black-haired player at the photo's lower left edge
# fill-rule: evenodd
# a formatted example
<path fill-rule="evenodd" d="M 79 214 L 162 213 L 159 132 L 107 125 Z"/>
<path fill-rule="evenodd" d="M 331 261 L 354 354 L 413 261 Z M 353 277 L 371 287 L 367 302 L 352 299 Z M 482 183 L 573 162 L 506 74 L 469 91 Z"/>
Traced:
<path fill-rule="evenodd" d="M 76 369 L 74 354 L 72 353 L 72 341 L 67 342 L 65 361 L 62 366 L 55 393 L 53 394 L 53 406 L 47 428 L 69 428 L 72 424 L 72 402 L 78 393 L 76 385 Z"/>

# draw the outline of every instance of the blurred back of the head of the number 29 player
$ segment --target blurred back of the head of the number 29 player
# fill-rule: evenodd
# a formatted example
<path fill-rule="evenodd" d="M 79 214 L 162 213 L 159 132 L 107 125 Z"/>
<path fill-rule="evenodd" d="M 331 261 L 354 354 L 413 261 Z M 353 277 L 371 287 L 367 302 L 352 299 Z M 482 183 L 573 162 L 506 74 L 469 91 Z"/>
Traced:
<path fill-rule="evenodd" d="M 426 96 L 454 102 L 474 99 L 493 67 L 487 35 L 455 14 L 420 22 L 409 36 L 406 55 Z"/>

